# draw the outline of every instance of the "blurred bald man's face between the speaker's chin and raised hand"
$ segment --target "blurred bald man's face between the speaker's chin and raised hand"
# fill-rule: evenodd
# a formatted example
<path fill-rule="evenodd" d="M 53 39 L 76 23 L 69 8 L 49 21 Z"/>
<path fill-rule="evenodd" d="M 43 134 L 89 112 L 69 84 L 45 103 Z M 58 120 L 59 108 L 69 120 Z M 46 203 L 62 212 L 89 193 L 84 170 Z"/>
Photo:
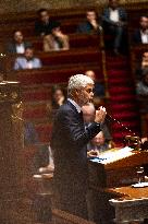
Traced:
<path fill-rule="evenodd" d="M 95 108 L 92 106 L 86 105 L 82 107 L 84 121 L 90 123 L 95 121 Z"/>

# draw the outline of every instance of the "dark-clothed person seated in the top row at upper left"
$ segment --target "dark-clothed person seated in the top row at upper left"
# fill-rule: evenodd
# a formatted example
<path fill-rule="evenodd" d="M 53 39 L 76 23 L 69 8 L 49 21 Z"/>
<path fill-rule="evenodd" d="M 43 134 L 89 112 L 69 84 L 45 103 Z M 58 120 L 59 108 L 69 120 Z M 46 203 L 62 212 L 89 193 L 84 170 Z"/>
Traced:
<path fill-rule="evenodd" d="M 35 34 L 38 36 L 45 36 L 51 34 L 53 21 L 50 20 L 47 9 L 40 9 L 38 11 L 38 20 L 35 22 Z"/>

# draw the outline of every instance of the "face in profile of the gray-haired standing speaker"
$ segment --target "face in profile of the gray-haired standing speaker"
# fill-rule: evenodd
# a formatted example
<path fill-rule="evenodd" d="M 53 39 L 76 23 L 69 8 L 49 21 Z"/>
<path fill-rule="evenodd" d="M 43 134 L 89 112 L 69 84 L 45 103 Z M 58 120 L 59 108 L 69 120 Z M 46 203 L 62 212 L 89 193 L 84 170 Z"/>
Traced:
<path fill-rule="evenodd" d="M 92 101 L 94 97 L 94 85 L 87 84 L 85 87 L 77 90 L 77 102 L 79 106 L 84 106 L 85 104 Z"/>

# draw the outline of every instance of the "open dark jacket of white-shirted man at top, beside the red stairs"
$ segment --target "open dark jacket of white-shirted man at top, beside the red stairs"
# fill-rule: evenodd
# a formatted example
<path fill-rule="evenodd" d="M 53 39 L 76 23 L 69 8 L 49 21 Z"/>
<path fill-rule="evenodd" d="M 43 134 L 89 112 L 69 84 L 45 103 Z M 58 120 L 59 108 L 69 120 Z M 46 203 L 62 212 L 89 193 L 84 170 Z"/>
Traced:
<path fill-rule="evenodd" d="M 120 21 L 126 22 L 127 21 L 126 11 L 123 8 L 118 8 L 118 10 L 119 10 Z M 104 9 L 101 20 L 102 20 L 102 25 L 104 24 L 114 25 L 114 22 L 110 20 L 110 8 Z"/>

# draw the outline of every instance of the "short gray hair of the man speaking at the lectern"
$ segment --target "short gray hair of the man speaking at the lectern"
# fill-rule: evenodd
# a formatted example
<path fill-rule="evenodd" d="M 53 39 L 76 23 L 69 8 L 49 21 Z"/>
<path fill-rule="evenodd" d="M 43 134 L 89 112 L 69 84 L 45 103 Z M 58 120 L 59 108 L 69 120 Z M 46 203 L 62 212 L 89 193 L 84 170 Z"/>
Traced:
<path fill-rule="evenodd" d="M 86 87 L 87 84 L 94 85 L 94 81 L 85 74 L 75 74 L 69 80 L 67 94 L 71 95 L 73 90 Z"/>

